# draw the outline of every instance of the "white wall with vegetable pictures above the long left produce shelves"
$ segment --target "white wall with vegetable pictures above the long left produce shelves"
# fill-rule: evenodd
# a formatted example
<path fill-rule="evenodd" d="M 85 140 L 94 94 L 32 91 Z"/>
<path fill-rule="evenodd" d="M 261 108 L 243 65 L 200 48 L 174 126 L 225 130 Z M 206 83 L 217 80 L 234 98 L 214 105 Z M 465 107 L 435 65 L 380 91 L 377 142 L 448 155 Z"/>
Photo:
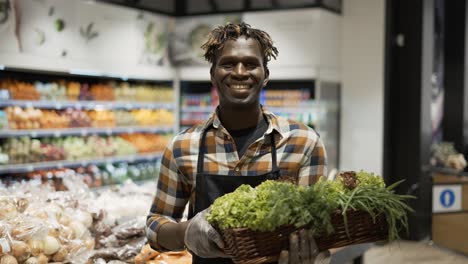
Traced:
<path fill-rule="evenodd" d="M 0 29 L 0 65 L 148 79 L 174 76 L 167 54 L 174 18 L 85 1 L 18 2 L 21 49 L 11 16 Z M 62 31 L 55 27 L 58 19 L 65 22 Z M 90 24 L 97 35 L 86 40 L 80 31 Z"/>

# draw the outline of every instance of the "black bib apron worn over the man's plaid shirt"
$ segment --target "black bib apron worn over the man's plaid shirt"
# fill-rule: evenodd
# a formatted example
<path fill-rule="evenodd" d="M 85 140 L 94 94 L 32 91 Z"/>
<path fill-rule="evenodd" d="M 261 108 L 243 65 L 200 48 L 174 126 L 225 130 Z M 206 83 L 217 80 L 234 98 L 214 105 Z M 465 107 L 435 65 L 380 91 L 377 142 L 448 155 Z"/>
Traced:
<path fill-rule="evenodd" d="M 213 204 L 216 198 L 224 194 L 231 193 L 242 184 L 255 187 L 266 180 L 276 180 L 280 177 L 280 170 L 276 162 L 276 146 L 273 135 L 270 136 L 271 144 L 271 164 L 272 170 L 268 173 L 257 176 L 230 176 L 203 173 L 205 159 L 205 139 L 208 129 L 202 133 L 200 149 L 198 152 L 197 178 L 195 188 L 195 208 L 190 208 L 188 218 L 192 218 L 197 213 L 205 210 Z M 268 243 L 265 241 L 265 243 Z M 193 254 L 193 253 L 192 253 Z M 201 258 L 193 254 L 193 264 L 231 264 L 234 263 L 229 258 Z"/>

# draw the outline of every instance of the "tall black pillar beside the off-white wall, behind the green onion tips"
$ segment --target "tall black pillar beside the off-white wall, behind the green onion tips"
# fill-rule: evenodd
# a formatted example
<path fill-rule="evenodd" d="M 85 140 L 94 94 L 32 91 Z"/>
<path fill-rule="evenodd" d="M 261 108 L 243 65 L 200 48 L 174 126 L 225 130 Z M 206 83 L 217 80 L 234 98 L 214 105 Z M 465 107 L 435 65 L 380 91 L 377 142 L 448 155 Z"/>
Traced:
<path fill-rule="evenodd" d="M 418 199 L 410 215 L 410 239 L 430 234 L 431 74 L 434 0 L 387 0 L 385 54 L 384 177 L 406 181 L 397 190 Z M 404 235 L 404 234 L 402 234 Z"/>

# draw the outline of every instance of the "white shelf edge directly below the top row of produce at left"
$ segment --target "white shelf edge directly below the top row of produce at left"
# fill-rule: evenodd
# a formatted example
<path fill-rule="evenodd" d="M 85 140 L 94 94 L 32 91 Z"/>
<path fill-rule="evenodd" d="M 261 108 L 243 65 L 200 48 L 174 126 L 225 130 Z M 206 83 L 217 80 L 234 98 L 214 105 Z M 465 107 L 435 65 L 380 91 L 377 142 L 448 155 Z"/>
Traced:
<path fill-rule="evenodd" d="M 6 100 L 0 101 L 0 107 L 19 106 L 36 107 L 48 109 L 167 109 L 174 110 L 173 103 L 140 103 L 140 102 L 122 102 L 122 101 L 28 101 L 28 100 Z"/>

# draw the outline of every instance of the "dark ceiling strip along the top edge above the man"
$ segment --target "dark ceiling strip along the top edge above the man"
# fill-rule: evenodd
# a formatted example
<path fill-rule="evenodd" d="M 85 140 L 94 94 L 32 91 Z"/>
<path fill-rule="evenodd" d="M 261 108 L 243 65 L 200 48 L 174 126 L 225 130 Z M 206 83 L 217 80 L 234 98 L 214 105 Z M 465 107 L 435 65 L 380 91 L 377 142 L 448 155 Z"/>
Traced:
<path fill-rule="evenodd" d="M 342 0 L 97 0 L 173 16 L 323 7 L 341 11 Z"/>

